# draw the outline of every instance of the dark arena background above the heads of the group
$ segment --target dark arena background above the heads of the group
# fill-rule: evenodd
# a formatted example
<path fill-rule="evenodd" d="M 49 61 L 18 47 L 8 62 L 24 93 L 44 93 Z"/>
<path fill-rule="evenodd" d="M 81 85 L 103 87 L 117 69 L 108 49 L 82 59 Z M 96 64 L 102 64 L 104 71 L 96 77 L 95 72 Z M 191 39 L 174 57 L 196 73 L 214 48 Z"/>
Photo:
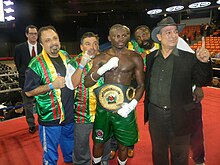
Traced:
<path fill-rule="evenodd" d="M 100 43 L 107 42 L 109 28 L 115 23 L 127 25 L 131 32 L 141 24 L 150 28 L 156 26 L 164 15 L 149 16 L 145 9 L 162 7 L 163 9 L 175 3 L 188 5 L 192 1 L 177 0 L 14 0 L 15 21 L 0 24 L 0 57 L 13 56 L 14 46 L 26 40 L 24 29 L 29 24 L 37 27 L 53 25 L 60 36 L 64 48 L 70 54 L 77 54 L 79 40 L 86 31 L 93 31 L 100 37 Z M 213 0 L 215 3 L 215 0 Z M 80 12 L 79 12 L 80 11 Z M 197 14 L 196 14 L 197 13 Z M 219 20 L 219 11 L 212 7 L 205 12 L 185 10 L 182 13 L 170 14 L 177 22 L 181 18 L 199 15 Z M 209 15 L 210 16 L 210 15 Z"/>

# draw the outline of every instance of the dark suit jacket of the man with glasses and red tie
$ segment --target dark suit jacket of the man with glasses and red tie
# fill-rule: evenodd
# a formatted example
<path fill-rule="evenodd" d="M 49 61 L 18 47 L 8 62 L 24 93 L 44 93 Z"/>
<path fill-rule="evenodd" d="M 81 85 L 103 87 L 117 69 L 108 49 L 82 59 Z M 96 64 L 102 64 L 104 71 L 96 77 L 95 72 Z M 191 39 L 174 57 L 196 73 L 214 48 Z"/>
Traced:
<path fill-rule="evenodd" d="M 37 53 L 39 54 L 41 51 L 42 47 L 39 43 L 37 43 Z M 25 70 L 27 69 L 31 60 L 28 42 L 23 42 L 15 46 L 14 60 L 19 73 L 19 86 L 23 89 L 25 81 Z"/>

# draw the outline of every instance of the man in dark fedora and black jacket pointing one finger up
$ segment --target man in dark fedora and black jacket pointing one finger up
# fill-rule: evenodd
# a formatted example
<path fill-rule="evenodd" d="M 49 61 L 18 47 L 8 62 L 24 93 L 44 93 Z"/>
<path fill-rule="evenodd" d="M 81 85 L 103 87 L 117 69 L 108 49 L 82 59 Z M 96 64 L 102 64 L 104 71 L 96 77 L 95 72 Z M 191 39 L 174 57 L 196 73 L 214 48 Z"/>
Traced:
<path fill-rule="evenodd" d="M 169 155 L 172 165 L 188 164 L 195 109 L 192 84 L 206 86 L 212 79 L 204 38 L 196 55 L 177 48 L 178 33 L 183 28 L 167 17 L 151 33 L 160 49 L 147 56 L 144 120 L 149 120 L 154 165 L 169 165 Z"/>

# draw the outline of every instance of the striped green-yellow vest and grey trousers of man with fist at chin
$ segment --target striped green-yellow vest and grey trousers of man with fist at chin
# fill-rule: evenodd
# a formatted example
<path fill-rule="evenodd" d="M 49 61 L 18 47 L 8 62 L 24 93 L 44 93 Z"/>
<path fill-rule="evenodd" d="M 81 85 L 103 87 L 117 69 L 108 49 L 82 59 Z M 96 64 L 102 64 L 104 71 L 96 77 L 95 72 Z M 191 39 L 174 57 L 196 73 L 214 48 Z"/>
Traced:
<path fill-rule="evenodd" d="M 70 65 L 76 70 L 79 67 L 79 63 L 83 54 L 80 53 L 75 58 L 71 59 Z M 90 153 L 90 133 L 93 130 L 93 123 L 96 114 L 97 102 L 93 92 L 94 88 L 101 86 L 103 78 L 100 78 L 98 82 L 90 87 L 84 86 L 84 78 L 92 67 L 92 61 L 90 61 L 83 69 L 81 82 L 79 86 L 74 89 L 74 150 L 73 150 L 73 164 L 91 164 Z M 109 153 L 109 152 L 108 152 Z M 109 156 L 104 153 L 102 161 L 107 161 Z"/>

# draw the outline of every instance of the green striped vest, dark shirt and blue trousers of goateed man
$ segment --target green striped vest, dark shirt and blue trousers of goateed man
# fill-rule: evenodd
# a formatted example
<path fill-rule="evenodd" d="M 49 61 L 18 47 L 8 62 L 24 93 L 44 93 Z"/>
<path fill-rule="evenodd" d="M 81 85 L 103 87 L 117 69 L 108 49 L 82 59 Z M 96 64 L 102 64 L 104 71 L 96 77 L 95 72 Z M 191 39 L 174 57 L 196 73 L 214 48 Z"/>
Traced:
<path fill-rule="evenodd" d="M 66 76 L 69 61 L 67 52 L 51 58 L 46 51 L 31 60 L 26 71 L 25 92 L 53 82 L 58 75 Z M 39 136 L 43 148 L 43 164 L 57 164 L 58 145 L 65 162 L 72 162 L 74 93 L 66 86 L 34 96 L 39 122 Z"/>

